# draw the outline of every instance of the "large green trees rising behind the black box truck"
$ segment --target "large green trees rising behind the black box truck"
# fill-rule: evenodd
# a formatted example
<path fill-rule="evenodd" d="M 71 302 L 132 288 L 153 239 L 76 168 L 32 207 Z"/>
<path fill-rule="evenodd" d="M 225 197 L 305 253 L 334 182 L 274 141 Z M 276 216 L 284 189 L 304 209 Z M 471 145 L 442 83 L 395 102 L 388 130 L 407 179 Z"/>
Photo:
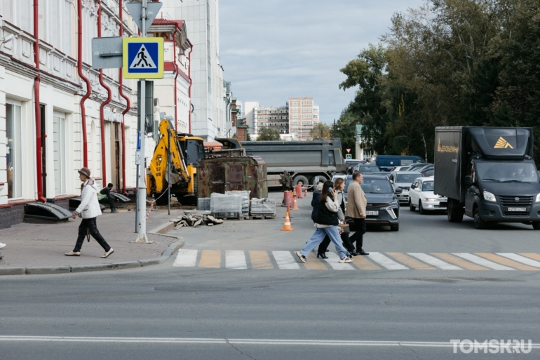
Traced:
<path fill-rule="evenodd" d="M 436 126 L 534 126 L 540 159 L 539 1 L 426 0 L 381 40 L 341 69 L 366 147 L 433 160 Z"/>

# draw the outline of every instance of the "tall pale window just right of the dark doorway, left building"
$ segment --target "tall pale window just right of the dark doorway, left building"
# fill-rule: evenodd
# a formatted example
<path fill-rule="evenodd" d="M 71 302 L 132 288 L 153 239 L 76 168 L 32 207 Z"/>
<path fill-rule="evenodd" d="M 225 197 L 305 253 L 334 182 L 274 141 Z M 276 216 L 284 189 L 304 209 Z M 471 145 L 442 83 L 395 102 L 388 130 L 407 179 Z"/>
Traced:
<path fill-rule="evenodd" d="M 93 140 L 93 139 L 92 139 Z M 55 112 L 53 116 L 53 151 L 55 194 L 66 193 L 66 115 Z"/>

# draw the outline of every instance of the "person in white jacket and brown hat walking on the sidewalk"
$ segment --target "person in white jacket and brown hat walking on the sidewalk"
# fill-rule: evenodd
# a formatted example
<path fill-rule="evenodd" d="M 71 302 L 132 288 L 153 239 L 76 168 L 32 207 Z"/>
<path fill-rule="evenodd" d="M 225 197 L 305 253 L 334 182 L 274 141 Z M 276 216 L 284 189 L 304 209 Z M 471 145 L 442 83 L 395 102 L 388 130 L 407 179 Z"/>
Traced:
<path fill-rule="evenodd" d="M 77 216 L 81 215 L 83 221 L 81 222 L 81 225 L 79 225 L 79 236 L 77 237 L 75 248 L 65 255 L 80 256 L 84 238 L 87 234 L 90 234 L 104 249 L 105 253 L 102 255 L 102 258 L 107 258 L 107 256 L 114 253 L 114 250 L 107 244 L 107 241 L 103 239 L 103 236 L 97 230 L 95 219 L 97 216 L 101 215 L 101 208 L 100 203 L 97 201 L 97 189 L 94 187 L 94 180 L 90 178 L 90 170 L 88 168 L 81 168 L 81 170 L 79 170 L 79 178 L 83 182 L 81 204 L 73 212 L 72 218 L 75 219 Z M 88 238 L 88 241 L 90 241 L 90 238 Z"/>

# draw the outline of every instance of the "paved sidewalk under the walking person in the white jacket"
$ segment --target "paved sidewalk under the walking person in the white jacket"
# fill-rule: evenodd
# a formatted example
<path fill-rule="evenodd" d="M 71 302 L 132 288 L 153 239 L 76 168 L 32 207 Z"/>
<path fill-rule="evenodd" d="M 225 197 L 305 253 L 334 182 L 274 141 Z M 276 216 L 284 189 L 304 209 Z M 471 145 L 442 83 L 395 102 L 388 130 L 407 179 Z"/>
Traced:
<path fill-rule="evenodd" d="M 8 229 L 1 229 L 0 240 L 6 244 L 6 247 L 0 251 L 1 255 L 4 256 L 4 259 L 0 260 L 0 272 L 2 269 L 6 272 L 6 268 L 28 269 L 36 267 L 62 267 L 64 270 L 69 270 L 70 267 L 78 268 L 81 265 L 110 265 L 122 262 L 126 262 L 124 267 L 134 267 L 133 263 L 132 266 L 129 266 L 128 262 L 157 260 L 171 244 L 176 243 L 179 239 L 174 236 L 150 234 L 150 232 L 156 227 L 166 224 L 169 219 L 182 215 L 182 213 L 182 210 L 171 210 L 171 215 L 167 215 L 166 209 L 152 211 L 147 220 L 147 236 L 150 241 L 155 241 L 154 244 L 130 244 L 130 241 L 137 239 L 135 212 L 119 210 L 119 213 L 112 214 L 108 209 L 105 210 L 103 215 L 97 218 L 97 229 L 100 230 L 109 246 L 114 249 L 114 253 L 106 259 L 101 258 L 104 250 L 91 236 L 89 243 L 85 239 L 81 248 L 81 256 L 64 255 L 64 253 L 72 251 L 75 246 L 81 218 L 76 218 L 76 220 L 70 218 L 69 222 L 58 224 L 22 223 Z M 114 266 L 114 268 L 119 267 L 122 266 Z M 113 266 L 110 268 L 112 269 Z M 83 271 L 82 268 L 79 270 Z M 73 269 L 71 272 L 74 272 Z M 15 273 L 20 274 L 20 272 Z M 22 274 L 24 273 L 22 272 Z M 26 273 L 30 272 L 26 271 Z"/>

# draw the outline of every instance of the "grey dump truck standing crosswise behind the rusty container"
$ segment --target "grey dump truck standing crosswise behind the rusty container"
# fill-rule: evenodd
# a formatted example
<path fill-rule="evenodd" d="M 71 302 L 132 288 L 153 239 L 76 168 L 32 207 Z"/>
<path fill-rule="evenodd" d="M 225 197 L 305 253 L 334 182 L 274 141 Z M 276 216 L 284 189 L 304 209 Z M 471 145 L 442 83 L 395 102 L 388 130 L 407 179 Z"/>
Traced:
<path fill-rule="evenodd" d="M 292 185 L 315 185 L 317 178 L 330 180 L 346 170 L 340 139 L 316 141 L 241 142 L 247 156 L 259 156 L 266 163 L 269 187 L 281 187 L 281 174 L 288 171 Z"/>

